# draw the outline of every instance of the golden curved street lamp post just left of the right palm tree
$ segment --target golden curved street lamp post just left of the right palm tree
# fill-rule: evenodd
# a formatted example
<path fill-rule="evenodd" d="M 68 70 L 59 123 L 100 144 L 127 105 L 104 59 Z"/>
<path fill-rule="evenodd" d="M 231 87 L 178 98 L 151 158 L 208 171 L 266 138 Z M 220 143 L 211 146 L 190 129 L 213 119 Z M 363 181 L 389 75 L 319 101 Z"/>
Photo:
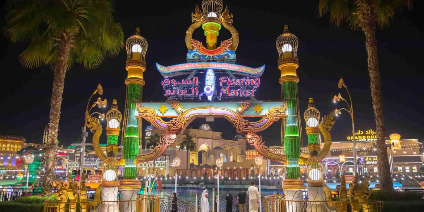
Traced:
<path fill-rule="evenodd" d="M 333 101 L 334 102 L 336 102 L 336 101 L 340 101 L 340 100 L 343 100 L 344 102 L 346 102 L 346 104 L 347 104 L 347 106 L 348 106 L 348 109 L 346 109 L 346 108 L 341 108 L 341 109 L 336 109 L 335 110 L 335 114 L 336 114 L 336 116 L 338 115 L 338 114 L 341 114 L 341 110 L 346 110 L 348 113 L 349 113 L 349 115 L 350 115 L 350 117 L 351 117 L 351 120 L 352 120 L 352 142 L 353 142 L 353 148 L 352 148 L 352 151 L 353 151 L 353 160 L 354 160 L 354 163 L 355 163 L 355 165 L 354 165 L 354 167 L 353 167 L 353 172 L 356 174 L 357 172 L 358 172 L 358 169 L 357 169 L 357 155 L 356 155 L 356 139 L 355 139 L 355 123 L 354 123 L 354 120 L 353 120 L 353 103 L 352 103 L 352 98 L 351 98 L 351 96 L 350 96 L 350 92 L 349 92 L 349 90 L 347 89 L 347 86 L 346 86 L 346 84 L 344 83 L 344 81 L 343 81 L 343 78 L 340 78 L 340 81 L 339 81 L 339 84 L 338 84 L 338 87 L 339 88 L 342 88 L 342 87 L 344 87 L 345 89 L 346 89 L 346 92 L 347 92 L 347 94 L 349 95 L 349 101 L 350 101 L 350 104 L 346 101 L 346 99 L 344 99 L 341 95 L 340 95 L 340 93 L 336 96 L 336 95 L 334 95 L 334 98 L 333 98 Z"/>

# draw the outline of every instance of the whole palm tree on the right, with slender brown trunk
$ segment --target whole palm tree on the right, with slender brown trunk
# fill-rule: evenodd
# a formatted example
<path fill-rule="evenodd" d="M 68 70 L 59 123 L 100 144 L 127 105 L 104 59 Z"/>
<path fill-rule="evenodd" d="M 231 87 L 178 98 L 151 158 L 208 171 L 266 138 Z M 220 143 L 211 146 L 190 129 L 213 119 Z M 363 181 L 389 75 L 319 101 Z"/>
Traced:
<path fill-rule="evenodd" d="M 385 27 L 393 19 L 395 11 L 408 6 L 412 0 L 318 0 L 318 16 L 329 13 L 330 22 L 336 26 L 343 21 L 350 22 L 354 29 L 360 28 L 365 34 L 365 49 L 368 55 L 371 98 L 377 131 L 377 156 L 381 190 L 393 191 L 390 166 L 388 163 L 385 127 L 382 108 L 381 82 L 377 58 L 376 27 Z"/>

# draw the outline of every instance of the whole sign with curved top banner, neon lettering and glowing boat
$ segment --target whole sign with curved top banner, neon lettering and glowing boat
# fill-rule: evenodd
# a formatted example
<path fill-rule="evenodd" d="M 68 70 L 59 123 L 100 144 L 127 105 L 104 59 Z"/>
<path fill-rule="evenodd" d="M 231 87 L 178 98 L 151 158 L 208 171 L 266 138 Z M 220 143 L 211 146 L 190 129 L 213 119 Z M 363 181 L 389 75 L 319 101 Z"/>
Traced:
<path fill-rule="evenodd" d="M 260 85 L 259 76 L 265 65 L 250 68 L 236 64 L 201 62 L 164 67 L 156 64 L 164 76 L 161 82 L 165 96 L 171 99 L 209 100 L 214 98 L 254 98 Z M 189 72 L 187 72 L 189 71 Z M 190 74 L 186 79 L 176 80 L 172 76 Z M 235 75 L 243 75 L 236 78 Z M 218 76 L 218 77 L 217 77 Z"/>

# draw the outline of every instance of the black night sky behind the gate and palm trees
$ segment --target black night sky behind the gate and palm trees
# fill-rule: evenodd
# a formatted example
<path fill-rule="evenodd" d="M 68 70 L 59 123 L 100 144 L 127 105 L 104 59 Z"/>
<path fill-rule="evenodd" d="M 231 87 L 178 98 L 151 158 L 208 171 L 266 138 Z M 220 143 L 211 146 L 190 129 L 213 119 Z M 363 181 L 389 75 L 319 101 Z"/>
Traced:
<path fill-rule="evenodd" d="M 195 4 L 200 6 L 201 0 L 142 2 L 145 1 L 118 1 L 115 17 L 122 25 L 125 39 L 133 35 L 136 27 L 140 27 L 141 35 L 147 39 L 143 100 L 163 101 L 166 100 L 160 85 L 163 78 L 156 70 L 155 63 L 169 66 L 186 62 L 185 31 L 191 24 L 190 14 Z M 336 106 L 344 106 L 341 102 L 338 105 L 332 102 L 332 97 L 338 92 L 347 98 L 346 92 L 337 86 L 340 77 L 343 77 L 354 101 L 355 128 L 375 130 L 363 32 L 351 30 L 348 24 L 336 28 L 329 24 L 328 16 L 318 18 L 318 1 L 247 2 L 225 0 L 224 5 L 228 5 L 234 14 L 233 25 L 240 33 L 236 64 L 249 67 L 266 64 L 256 98 L 280 99 L 280 71 L 277 68 L 275 41 L 287 24 L 290 32 L 299 39 L 297 73 L 300 78 L 298 93 L 302 128 L 305 127 L 303 112 L 307 109 L 308 98 L 314 98 L 321 116 L 330 113 Z M 1 17 L 4 17 L 5 6 L 1 12 Z M 387 137 L 398 133 L 402 139 L 417 138 L 421 141 L 424 135 L 423 12 L 421 1 L 414 1 L 412 11 L 398 13 L 390 28 L 377 31 Z M 193 38 L 204 42 L 202 33 L 198 28 Z M 229 37 L 230 34 L 223 28 L 218 42 Z M 0 42 L 3 46 L 0 51 L 0 133 L 24 136 L 27 142 L 41 143 L 43 129 L 48 123 L 53 73 L 48 67 L 22 68 L 17 56 L 25 49 L 25 44 L 12 44 L 4 36 L 1 36 Z M 119 109 L 123 112 L 124 80 L 127 75 L 125 61 L 126 52 L 121 50 L 119 56 L 107 59 L 95 70 L 86 70 L 80 65 L 70 68 L 65 80 L 59 124 L 60 144 L 67 146 L 81 138 L 85 106 L 97 84 L 102 84 L 102 98 L 109 101 L 107 109 L 100 112 L 106 113 L 110 109 L 113 98 L 118 100 Z M 191 126 L 197 128 L 204 122 L 204 119 L 198 119 Z M 208 124 L 213 131 L 222 131 L 225 139 L 231 139 L 236 134 L 232 124 L 226 120 L 215 119 L 215 122 Z M 143 128 L 148 125 L 143 122 Z M 105 124 L 103 126 L 106 127 Z M 275 123 L 259 134 L 262 134 L 267 145 L 281 145 L 280 128 L 281 122 Z M 346 140 L 350 133 L 349 114 L 343 113 L 336 118 L 331 131 L 333 141 Z M 305 144 L 304 129 L 303 135 Z M 89 142 L 91 136 L 90 133 Z M 102 137 L 101 142 L 106 143 L 106 136 Z"/>

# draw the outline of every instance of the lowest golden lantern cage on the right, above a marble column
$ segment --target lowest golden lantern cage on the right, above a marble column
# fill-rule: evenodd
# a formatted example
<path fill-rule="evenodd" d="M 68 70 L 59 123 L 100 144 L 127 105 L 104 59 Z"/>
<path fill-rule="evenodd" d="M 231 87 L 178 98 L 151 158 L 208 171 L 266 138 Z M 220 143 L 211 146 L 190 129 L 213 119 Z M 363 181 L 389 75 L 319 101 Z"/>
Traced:
<path fill-rule="evenodd" d="M 324 167 L 317 156 L 311 156 L 305 162 L 309 186 L 322 186 L 324 183 Z"/>

